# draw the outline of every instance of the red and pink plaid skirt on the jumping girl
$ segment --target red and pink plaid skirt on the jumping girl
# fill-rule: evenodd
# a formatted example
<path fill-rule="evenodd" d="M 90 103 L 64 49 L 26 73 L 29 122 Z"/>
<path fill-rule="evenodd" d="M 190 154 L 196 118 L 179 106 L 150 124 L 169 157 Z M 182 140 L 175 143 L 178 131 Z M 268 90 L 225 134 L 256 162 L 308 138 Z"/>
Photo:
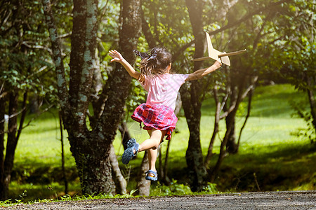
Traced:
<path fill-rule="evenodd" d="M 144 130 L 166 130 L 166 140 L 171 139 L 171 132 L 175 130 L 178 118 L 173 109 L 162 104 L 140 104 L 131 118 L 144 124 Z"/>

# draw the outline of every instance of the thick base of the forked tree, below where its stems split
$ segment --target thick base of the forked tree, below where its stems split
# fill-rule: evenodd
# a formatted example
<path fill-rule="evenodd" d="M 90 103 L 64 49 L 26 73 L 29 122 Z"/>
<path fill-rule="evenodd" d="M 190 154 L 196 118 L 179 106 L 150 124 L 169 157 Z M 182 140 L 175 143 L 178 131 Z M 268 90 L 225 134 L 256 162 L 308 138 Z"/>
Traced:
<path fill-rule="evenodd" d="M 104 141 L 99 135 L 91 133 L 81 137 L 72 137 L 68 131 L 70 151 L 76 161 L 82 193 L 115 193 L 115 183 L 112 179 L 110 163 L 110 148 L 105 148 Z M 92 141 L 93 139 L 93 141 Z"/>

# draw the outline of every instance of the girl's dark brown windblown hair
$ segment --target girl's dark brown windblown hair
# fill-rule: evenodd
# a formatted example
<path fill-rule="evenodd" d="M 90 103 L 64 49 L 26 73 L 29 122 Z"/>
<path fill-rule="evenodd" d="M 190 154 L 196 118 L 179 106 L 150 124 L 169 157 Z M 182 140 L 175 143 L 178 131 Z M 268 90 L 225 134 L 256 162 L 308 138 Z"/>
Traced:
<path fill-rule="evenodd" d="M 152 51 L 154 51 L 152 53 L 157 53 L 157 55 L 151 55 L 142 59 L 140 62 L 140 73 L 146 76 L 166 73 L 171 63 L 171 53 L 166 48 L 154 48 Z"/>

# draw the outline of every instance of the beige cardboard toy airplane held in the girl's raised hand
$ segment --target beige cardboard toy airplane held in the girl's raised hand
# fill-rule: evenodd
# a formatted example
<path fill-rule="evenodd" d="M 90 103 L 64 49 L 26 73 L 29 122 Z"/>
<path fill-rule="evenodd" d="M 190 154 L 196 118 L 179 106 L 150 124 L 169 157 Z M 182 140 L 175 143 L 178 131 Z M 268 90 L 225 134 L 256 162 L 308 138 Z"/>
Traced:
<path fill-rule="evenodd" d="M 207 42 L 207 51 L 208 51 L 209 56 L 195 58 L 195 59 L 192 59 L 192 61 L 202 61 L 202 60 L 206 60 L 206 59 L 210 59 L 210 58 L 217 60 L 218 58 L 220 58 L 220 60 L 222 61 L 223 64 L 230 66 L 230 59 L 228 56 L 238 55 L 238 54 L 241 54 L 243 52 L 246 52 L 246 49 L 235 51 L 235 52 L 220 52 L 220 51 L 214 49 L 213 45 L 211 43 L 211 38 L 209 37 L 209 34 L 207 32 L 206 32 L 206 42 Z"/>

